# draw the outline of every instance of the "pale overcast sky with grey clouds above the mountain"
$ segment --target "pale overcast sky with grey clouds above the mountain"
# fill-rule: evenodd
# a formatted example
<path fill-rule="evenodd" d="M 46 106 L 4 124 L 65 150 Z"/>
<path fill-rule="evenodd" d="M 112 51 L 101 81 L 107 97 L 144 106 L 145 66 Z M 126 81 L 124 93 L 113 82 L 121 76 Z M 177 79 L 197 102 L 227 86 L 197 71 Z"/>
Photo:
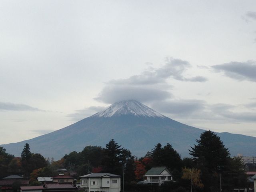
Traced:
<path fill-rule="evenodd" d="M 127 99 L 256 136 L 256 1 L 1 1 L 0 144 Z"/>

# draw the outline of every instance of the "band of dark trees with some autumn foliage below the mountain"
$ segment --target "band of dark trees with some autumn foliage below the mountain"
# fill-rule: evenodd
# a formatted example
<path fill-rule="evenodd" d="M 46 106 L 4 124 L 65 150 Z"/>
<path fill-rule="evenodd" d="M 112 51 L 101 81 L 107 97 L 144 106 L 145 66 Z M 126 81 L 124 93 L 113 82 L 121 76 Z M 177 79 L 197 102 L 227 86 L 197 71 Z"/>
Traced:
<path fill-rule="evenodd" d="M 198 192 L 216 192 L 220 190 L 220 175 L 222 178 L 222 189 L 232 190 L 234 187 L 246 187 L 247 176 L 243 170 L 241 158 L 231 158 L 220 137 L 214 132 L 205 131 L 196 145 L 191 147 L 192 158 L 180 157 L 171 144 L 165 146 L 158 143 L 151 152 L 144 157 L 135 158 L 130 150 L 122 148 L 113 139 L 106 144 L 105 148 L 100 146 L 86 146 L 81 152 L 70 152 L 58 161 L 46 160 L 41 154 L 31 153 L 29 144 L 24 146 L 20 157 L 14 157 L 6 153 L 0 147 L 0 178 L 10 174 L 25 174 L 36 184 L 39 176 L 55 176 L 58 168 L 68 169 L 68 174 L 82 176 L 91 172 L 110 172 L 122 175 L 124 168 L 125 185 L 142 180 L 142 176 L 152 167 L 165 166 L 173 175 L 175 182 L 162 185 L 159 188 L 134 185 L 132 190 L 182 192 L 190 190 Z M 196 172 L 198 185 L 191 187 L 190 180 L 184 174 Z M 183 176 L 182 176 L 183 171 Z M 202 184 L 199 185 L 199 183 Z M 126 187 L 127 189 L 127 187 Z"/>

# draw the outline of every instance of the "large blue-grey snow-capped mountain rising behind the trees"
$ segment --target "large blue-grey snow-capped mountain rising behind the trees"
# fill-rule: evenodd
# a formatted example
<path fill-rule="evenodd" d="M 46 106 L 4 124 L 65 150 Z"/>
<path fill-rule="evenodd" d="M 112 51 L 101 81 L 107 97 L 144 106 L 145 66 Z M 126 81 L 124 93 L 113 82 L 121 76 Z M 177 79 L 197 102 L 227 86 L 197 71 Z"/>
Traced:
<path fill-rule="evenodd" d="M 204 131 L 172 120 L 138 101 L 126 100 L 60 130 L 0 146 L 8 153 L 20 156 L 28 143 L 31 152 L 58 160 L 64 154 L 82 151 L 88 145 L 105 147 L 111 139 L 138 157 L 144 156 L 158 142 L 163 145 L 168 142 L 185 157 L 189 156 L 188 149 Z M 216 134 L 232 156 L 238 153 L 256 155 L 256 137 L 227 132 Z"/>

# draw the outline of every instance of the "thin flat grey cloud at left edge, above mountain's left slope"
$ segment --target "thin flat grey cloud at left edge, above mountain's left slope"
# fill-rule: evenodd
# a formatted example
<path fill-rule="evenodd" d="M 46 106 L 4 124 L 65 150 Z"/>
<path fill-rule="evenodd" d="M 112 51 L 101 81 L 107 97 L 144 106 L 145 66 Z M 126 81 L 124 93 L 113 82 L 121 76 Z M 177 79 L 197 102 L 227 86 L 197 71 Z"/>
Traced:
<path fill-rule="evenodd" d="M 24 104 L 15 104 L 10 102 L 0 102 L 0 110 L 10 111 L 44 111 L 35 107 L 31 107 Z"/>

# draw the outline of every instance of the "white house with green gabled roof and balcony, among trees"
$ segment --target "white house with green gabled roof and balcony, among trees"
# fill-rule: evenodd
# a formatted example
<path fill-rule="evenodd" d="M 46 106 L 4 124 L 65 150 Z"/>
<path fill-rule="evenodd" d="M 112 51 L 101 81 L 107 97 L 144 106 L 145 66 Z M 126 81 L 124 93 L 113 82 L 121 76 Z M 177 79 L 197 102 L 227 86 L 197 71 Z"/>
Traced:
<path fill-rule="evenodd" d="M 153 167 L 143 176 L 143 184 L 161 185 L 172 181 L 172 174 L 166 167 Z"/>

